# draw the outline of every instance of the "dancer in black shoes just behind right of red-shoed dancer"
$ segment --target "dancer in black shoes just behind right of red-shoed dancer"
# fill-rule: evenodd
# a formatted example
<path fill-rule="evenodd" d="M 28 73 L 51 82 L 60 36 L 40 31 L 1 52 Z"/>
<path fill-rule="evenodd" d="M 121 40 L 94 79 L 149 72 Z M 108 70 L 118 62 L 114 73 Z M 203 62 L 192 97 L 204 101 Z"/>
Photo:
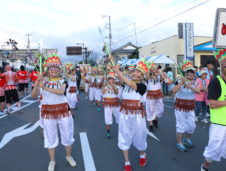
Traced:
<path fill-rule="evenodd" d="M 146 115 L 147 121 L 149 122 L 149 130 L 154 131 L 158 128 L 158 118 L 162 117 L 164 112 L 164 105 L 162 100 L 162 86 L 161 80 L 165 80 L 161 70 L 157 70 L 155 63 L 151 64 L 151 68 L 147 72 L 146 79 L 147 85 L 147 95 L 146 95 Z"/>

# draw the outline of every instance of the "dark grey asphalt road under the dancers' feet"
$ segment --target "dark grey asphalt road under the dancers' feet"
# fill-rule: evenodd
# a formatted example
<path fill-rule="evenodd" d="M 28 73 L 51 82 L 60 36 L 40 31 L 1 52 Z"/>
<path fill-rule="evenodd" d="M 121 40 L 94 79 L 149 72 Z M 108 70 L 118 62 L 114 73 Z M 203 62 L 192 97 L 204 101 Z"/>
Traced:
<path fill-rule="evenodd" d="M 188 152 L 179 152 L 175 146 L 173 102 L 167 100 L 164 104 L 164 115 L 159 120 L 159 128 L 154 132 L 160 141 L 148 136 L 146 151 L 148 163 L 144 168 L 138 165 L 139 152 L 131 147 L 129 155 L 133 170 L 200 171 L 203 161 L 202 154 L 208 143 L 209 124 L 197 123 L 195 134 L 192 137 L 194 148 Z M 38 127 L 37 122 L 39 103 L 28 97 L 22 105 L 27 105 L 23 108 L 22 115 L 15 112 L 0 119 L 0 170 L 46 171 L 49 157 L 47 150 L 43 148 L 42 130 Z M 80 94 L 78 109 L 73 113 L 75 114 L 76 141 L 73 145 L 72 155 L 77 162 L 77 167 L 68 166 L 65 161 L 64 147 L 59 145 L 56 150 L 56 171 L 122 171 L 124 161 L 117 146 L 117 125 L 112 126 L 112 139 L 108 140 L 103 111 L 97 112 L 94 104 L 88 104 L 83 93 Z M 22 126 L 25 127 L 21 128 Z M 82 132 L 85 133 L 85 137 L 87 136 L 88 144 L 81 139 Z M 82 152 L 82 145 L 84 152 Z M 89 152 L 91 152 L 90 156 Z M 92 165 L 92 160 L 94 165 Z M 225 171 L 225 160 L 214 163 L 210 170 Z"/>

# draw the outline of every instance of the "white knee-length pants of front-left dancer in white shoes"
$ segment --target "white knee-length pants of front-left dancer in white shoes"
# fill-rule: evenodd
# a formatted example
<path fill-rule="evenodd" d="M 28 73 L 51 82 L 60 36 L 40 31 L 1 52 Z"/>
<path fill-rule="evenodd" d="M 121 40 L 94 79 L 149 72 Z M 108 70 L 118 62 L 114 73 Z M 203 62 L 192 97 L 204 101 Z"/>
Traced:
<path fill-rule="evenodd" d="M 74 121 L 72 116 L 60 119 L 42 119 L 44 128 L 44 147 L 55 148 L 59 144 L 58 129 L 60 130 L 61 144 L 70 146 L 74 142 Z"/>

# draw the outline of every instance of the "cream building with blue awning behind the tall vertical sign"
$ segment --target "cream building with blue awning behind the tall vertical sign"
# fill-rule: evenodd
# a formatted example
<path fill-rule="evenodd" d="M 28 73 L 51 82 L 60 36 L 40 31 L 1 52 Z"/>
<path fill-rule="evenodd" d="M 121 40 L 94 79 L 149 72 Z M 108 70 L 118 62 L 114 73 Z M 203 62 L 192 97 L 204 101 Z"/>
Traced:
<path fill-rule="evenodd" d="M 214 48 L 211 41 L 212 37 L 194 36 L 194 64 L 196 66 L 205 65 L 208 60 L 212 60 L 216 66 L 218 65 L 214 59 Z M 175 35 L 139 49 L 140 58 L 160 54 L 181 64 L 184 60 L 184 40 Z"/>

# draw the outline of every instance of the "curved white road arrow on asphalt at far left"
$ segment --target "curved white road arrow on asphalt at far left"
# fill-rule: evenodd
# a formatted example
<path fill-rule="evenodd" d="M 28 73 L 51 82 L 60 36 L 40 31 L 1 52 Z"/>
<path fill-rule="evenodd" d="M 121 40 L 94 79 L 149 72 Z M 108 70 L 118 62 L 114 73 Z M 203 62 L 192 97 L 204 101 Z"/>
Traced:
<path fill-rule="evenodd" d="M 28 123 L 24 126 L 21 126 L 17 129 L 14 129 L 8 133 L 6 133 L 4 135 L 4 137 L 2 138 L 2 141 L 0 143 L 0 149 L 3 148 L 7 143 L 9 143 L 13 138 L 25 135 L 25 134 L 29 134 L 31 132 L 33 132 L 36 128 L 38 128 L 39 126 L 39 121 L 37 121 L 33 126 L 29 127 L 26 129 L 26 127 L 28 125 L 30 125 L 31 123 Z"/>

